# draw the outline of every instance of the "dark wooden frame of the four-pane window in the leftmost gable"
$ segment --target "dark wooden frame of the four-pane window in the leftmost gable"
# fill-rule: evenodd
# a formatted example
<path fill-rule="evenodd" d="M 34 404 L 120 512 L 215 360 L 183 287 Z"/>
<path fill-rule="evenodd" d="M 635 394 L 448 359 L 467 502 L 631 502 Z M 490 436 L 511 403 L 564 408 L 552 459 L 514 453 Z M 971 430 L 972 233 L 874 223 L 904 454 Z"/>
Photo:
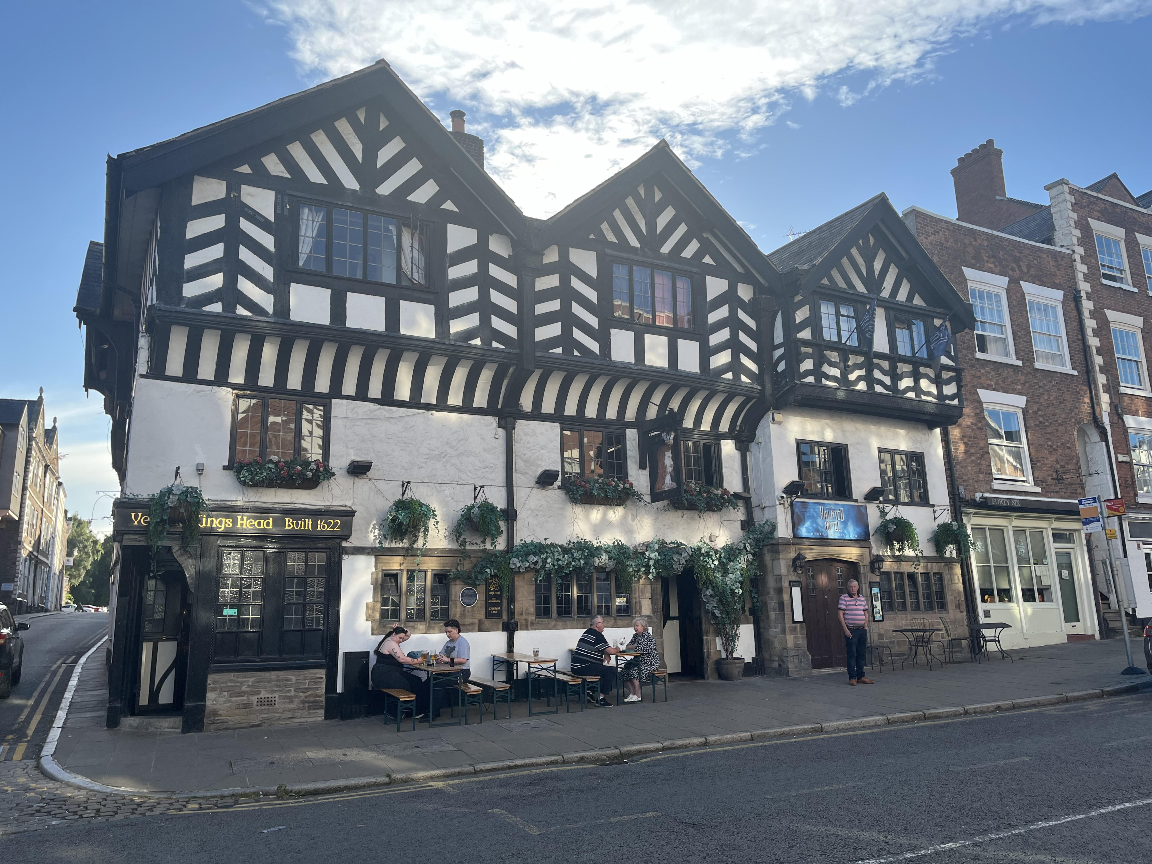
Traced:
<path fill-rule="evenodd" d="M 300 209 L 301 206 L 310 207 L 324 207 L 326 212 L 326 248 L 325 248 L 325 268 L 324 270 L 312 270 L 310 267 L 301 266 L 300 264 Z M 363 253 L 361 257 L 362 276 L 343 276 L 333 273 L 332 271 L 332 252 L 333 252 L 333 234 L 335 228 L 335 210 L 349 210 L 357 213 L 362 213 L 364 219 L 364 242 L 362 243 Z M 288 226 L 288 240 L 285 243 L 283 255 L 278 256 L 281 265 L 285 267 L 285 272 L 291 274 L 291 281 L 301 281 L 308 283 L 314 283 L 316 281 L 321 282 L 320 287 L 326 288 L 339 288 L 342 290 L 355 290 L 357 294 L 374 294 L 382 296 L 386 289 L 401 289 L 401 290 L 415 290 L 420 294 L 427 294 L 430 291 L 438 290 L 439 286 L 439 236 L 441 233 L 441 222 L 431 219 L 423 219 L 415 214 L 402 215 L 395 212 L 387 212 L 382 210 L 373 210 L 370 207 L 364 207 L 359 204 L 348 204 L 346 202 L 325 200 L 323 198 L 312 198 L 306 196 L 285 196 L 285 222 Z M 367 278 L 367 217 L 374 215 L 382 219 L 392 219 L 396 222 L 396 281 L 386 282 L 377 281 L 374 279 Z M 403 278 L 403 266 L 401 264 L 400 245 L 403 236 L 403 229 L 409 228 L 414 233 L 418 232 L 424 238 L 424 285 L 419 285 L 411 279 L 407 281 Z M 300 279 L 296 279 L 300 276 Z M 331 280 L 332 285 L 324 285 Z M 356 286 L 353 289 L 350 286 Z"/>

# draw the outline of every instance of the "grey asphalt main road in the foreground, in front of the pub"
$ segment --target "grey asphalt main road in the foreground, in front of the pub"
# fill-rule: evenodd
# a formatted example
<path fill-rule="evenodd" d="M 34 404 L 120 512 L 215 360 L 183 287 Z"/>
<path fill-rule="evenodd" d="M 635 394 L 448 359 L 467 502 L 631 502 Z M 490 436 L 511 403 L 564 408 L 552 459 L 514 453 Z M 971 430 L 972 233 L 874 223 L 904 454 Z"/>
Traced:
<path fill-rule="evenodd" d="M 6 857 L 1130 864 L 1152 858 L 1150 720 L 1152 694 L 1140 694 L 620 765 L 62 823 L 6 838 Z"/>

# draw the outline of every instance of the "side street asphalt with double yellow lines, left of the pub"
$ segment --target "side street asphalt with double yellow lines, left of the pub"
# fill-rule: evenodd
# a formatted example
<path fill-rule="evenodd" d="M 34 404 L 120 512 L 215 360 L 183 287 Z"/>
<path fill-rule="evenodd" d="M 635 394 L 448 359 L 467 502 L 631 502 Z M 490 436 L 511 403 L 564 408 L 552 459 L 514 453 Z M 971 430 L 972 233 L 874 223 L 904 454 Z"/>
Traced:
<path fill-rule="evenodd" d="M 108 629 L 106 612 L 21 616 L 24 672 L 0 699 L 0 761 L 35 759 L 52 728 L 76 661 Z"/>

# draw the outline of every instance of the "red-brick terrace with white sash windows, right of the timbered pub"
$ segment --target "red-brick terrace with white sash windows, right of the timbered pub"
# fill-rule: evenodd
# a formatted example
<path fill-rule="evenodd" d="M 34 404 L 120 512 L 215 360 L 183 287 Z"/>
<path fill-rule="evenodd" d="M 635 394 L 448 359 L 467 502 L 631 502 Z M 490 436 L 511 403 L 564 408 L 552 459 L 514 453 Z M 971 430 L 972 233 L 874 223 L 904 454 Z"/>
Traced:
<path fill-rule="evenodd" d="M 1052 183 L 1046 205 L 1010 198 L 1002 156 L 988 141 L 957 160 L 958 219 L 919 207 L 904 218 L 967 286 L 977 318 L 957 343 L 969 408 L 983 410 L 965 412 L 950 441 L 954 494 L 976 543 L 977 614 L 1013 623 L 1015 644 L 1043 644 L 1120 621 L 1102 536 L 1081 532 L 1077 498 L 1124 498 L 1132 515 L 1129 543 L 1114 550 L 1120 569 L 1128 558 L 1134 571 L 1152 570 L 1132 539 L 1152 540 L 1137 491 L 1144 441 L 1152 448 L 1142 331 L 1152 195 L 1137 198 L 1111 175 L 1083 189 Z M 1117 344 L 1134 384 L 1120 384 Z M 1145 485 L 1152 507 L 1152 473 Z M 1146 594 L 1147 578 L 1137 582 Z M 1135 594 L 1139 614 L 1152 614 L 1152 596 Z"/>

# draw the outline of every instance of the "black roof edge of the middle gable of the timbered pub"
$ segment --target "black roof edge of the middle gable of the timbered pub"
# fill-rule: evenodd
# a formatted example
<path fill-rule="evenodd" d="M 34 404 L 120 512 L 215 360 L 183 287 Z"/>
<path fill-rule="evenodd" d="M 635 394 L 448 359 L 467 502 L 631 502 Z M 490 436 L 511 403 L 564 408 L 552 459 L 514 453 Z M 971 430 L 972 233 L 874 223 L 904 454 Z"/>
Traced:
<path fill-rule="evenodd" d="M 748 232 L 741 227 L 740 222 L 733 219 L 720 202 L 712 196 L 712 192 L 697 180 L 691 169 L 684 165 L 664 138 L 653 144 L 636 161 L 621 168 L 602 183 L 548 218 L 544 223 L 546 227 L 540 233 L 540 245 L 551 245 L 563 234 L 579 228 L 585 220 L 597 215 L 609 204 L 619 204 L 621 191 L 635 189 L 657 172 L 662 172 L 669 182 L 676 185 L 677 191 L 699 211 L 700 215 L 718 227 L 725 241 L 733 247 L 733 250 L 743 259 L 743 264 L 749 270 L 765 282 L 771 279 L 773 274 L 766 273 L 763 264 L 764 252 L 756 245 Z"/>

